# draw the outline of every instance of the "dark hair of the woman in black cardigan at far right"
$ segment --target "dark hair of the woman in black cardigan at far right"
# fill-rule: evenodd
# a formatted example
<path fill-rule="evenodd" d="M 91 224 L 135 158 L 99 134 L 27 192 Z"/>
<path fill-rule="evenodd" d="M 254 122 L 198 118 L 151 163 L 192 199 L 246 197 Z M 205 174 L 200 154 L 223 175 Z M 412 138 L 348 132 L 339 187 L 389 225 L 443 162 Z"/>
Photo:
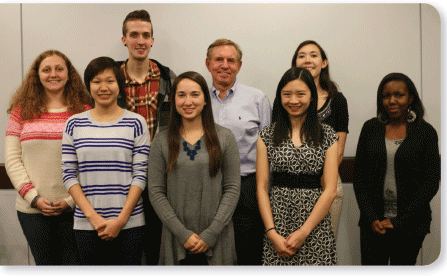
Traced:
<path fill-rule="evenodd" d="M 382 81 L 380 82 L 379 88 L 377 89 L 377 117 L 380 117 L 381 120 L 388 121 L 389 116 L 385 111 L 385 107 L 383 107 L 383 88 L 388 82 L 391 81 L 402 81 L 405 83 L 405 87 L 407 88 L 408 95 L 413 98 L 413 101 L 410 104 L 410 109 L 416 113 L 416 121 L 422 120 L 424 117 L 425 109 L 422 105 L 422 101 L 419 98 L 418 91 L 413 81 L 403 73 L 393 72 L 387 74 Z"/>

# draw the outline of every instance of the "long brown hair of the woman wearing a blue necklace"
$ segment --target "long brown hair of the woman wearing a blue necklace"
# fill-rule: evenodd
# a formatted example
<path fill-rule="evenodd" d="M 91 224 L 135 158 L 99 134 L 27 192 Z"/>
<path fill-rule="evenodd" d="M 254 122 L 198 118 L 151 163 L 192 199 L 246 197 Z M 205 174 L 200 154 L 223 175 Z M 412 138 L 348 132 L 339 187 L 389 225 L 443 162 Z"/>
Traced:
<path fill-rule="evenodd" d="M 211 97 L 206 84 L 205 78 L 197 72 L 188 71 L 180 74 L 174 80 L 172 89 L 169 95 L 171 102 L 171 111 L 168 123 L 168 166 L 166 172 L 172 171 L 177 162 L 178 153 L 180 150 L 180 128 L 182 127 L 182 116 L 177 112 L 175 106 L 175 93 L 177 86 L 183 79 L 190 79 L 199 84 L 205 96 L 205 106 L 202 110 L 202 125 L 205 131 L 205 145 L 208 150 L 209 156 L 209 173 L 211 177 L 214 177 L 219 169 L 222 167 L 222 150 L 220 148 L 219 138 L 217 137 L 216 127 L 214 125 L 213 111 L 211 108 Z"/>

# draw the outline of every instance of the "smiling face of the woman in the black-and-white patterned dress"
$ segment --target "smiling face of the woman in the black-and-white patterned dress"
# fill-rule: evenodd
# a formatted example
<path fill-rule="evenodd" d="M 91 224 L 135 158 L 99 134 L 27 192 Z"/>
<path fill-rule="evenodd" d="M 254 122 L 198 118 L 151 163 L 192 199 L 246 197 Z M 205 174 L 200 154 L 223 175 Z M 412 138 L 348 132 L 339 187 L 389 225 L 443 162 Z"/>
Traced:
<path fill-rule="evenodd" d="M 309 87 L 300 79 L 290 81 L 281 90 L 282 106 L 291 118 L 305 116 L 311 100 Z"/>

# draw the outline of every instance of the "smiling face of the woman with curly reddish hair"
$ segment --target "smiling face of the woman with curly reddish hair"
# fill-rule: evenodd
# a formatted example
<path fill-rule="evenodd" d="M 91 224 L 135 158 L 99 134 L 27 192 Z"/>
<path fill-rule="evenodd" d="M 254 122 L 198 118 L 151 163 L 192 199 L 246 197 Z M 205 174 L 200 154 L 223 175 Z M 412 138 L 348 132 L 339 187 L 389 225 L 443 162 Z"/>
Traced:
<path fill-rule="evenodd" d="M 43 59 L 39 66 L 39 79 L 47 94 L 63 92 L 68 81 L 68 69 L 64 59 L 58 55 Z"/>

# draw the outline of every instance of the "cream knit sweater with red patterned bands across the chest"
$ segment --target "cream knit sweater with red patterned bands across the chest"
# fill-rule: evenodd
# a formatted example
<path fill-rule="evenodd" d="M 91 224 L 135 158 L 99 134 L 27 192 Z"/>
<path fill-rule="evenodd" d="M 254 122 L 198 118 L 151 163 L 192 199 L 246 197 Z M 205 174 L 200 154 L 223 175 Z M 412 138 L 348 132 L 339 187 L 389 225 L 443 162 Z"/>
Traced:
<path fill-rule="evenodd" d="M 88 105 L 85 110 L 91 109 Z M 49 109 L 37 119 L 23 120 L 17 106 L 9 117 L 5 138 L 5 168 L 18 191 L 16 209 L 41 213 L 30 204 L 38 194 L 51 202 L 75 203 L 62 184 L 60 171 L 62 132 L 73 113 Z"/>

